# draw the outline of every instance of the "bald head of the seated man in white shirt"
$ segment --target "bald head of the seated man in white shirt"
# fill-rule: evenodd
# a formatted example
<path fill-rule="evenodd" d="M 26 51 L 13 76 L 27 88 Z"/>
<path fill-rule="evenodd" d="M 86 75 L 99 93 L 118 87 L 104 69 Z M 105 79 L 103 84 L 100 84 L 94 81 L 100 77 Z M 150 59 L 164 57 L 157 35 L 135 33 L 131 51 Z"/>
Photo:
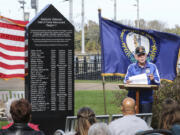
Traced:
<path fill-rule="evenodd" d="M 135 114 L 136 113 L 135 100 L 130 97 L 125 98 L 122 102 L 121 110 L 123 115 Z"/>

